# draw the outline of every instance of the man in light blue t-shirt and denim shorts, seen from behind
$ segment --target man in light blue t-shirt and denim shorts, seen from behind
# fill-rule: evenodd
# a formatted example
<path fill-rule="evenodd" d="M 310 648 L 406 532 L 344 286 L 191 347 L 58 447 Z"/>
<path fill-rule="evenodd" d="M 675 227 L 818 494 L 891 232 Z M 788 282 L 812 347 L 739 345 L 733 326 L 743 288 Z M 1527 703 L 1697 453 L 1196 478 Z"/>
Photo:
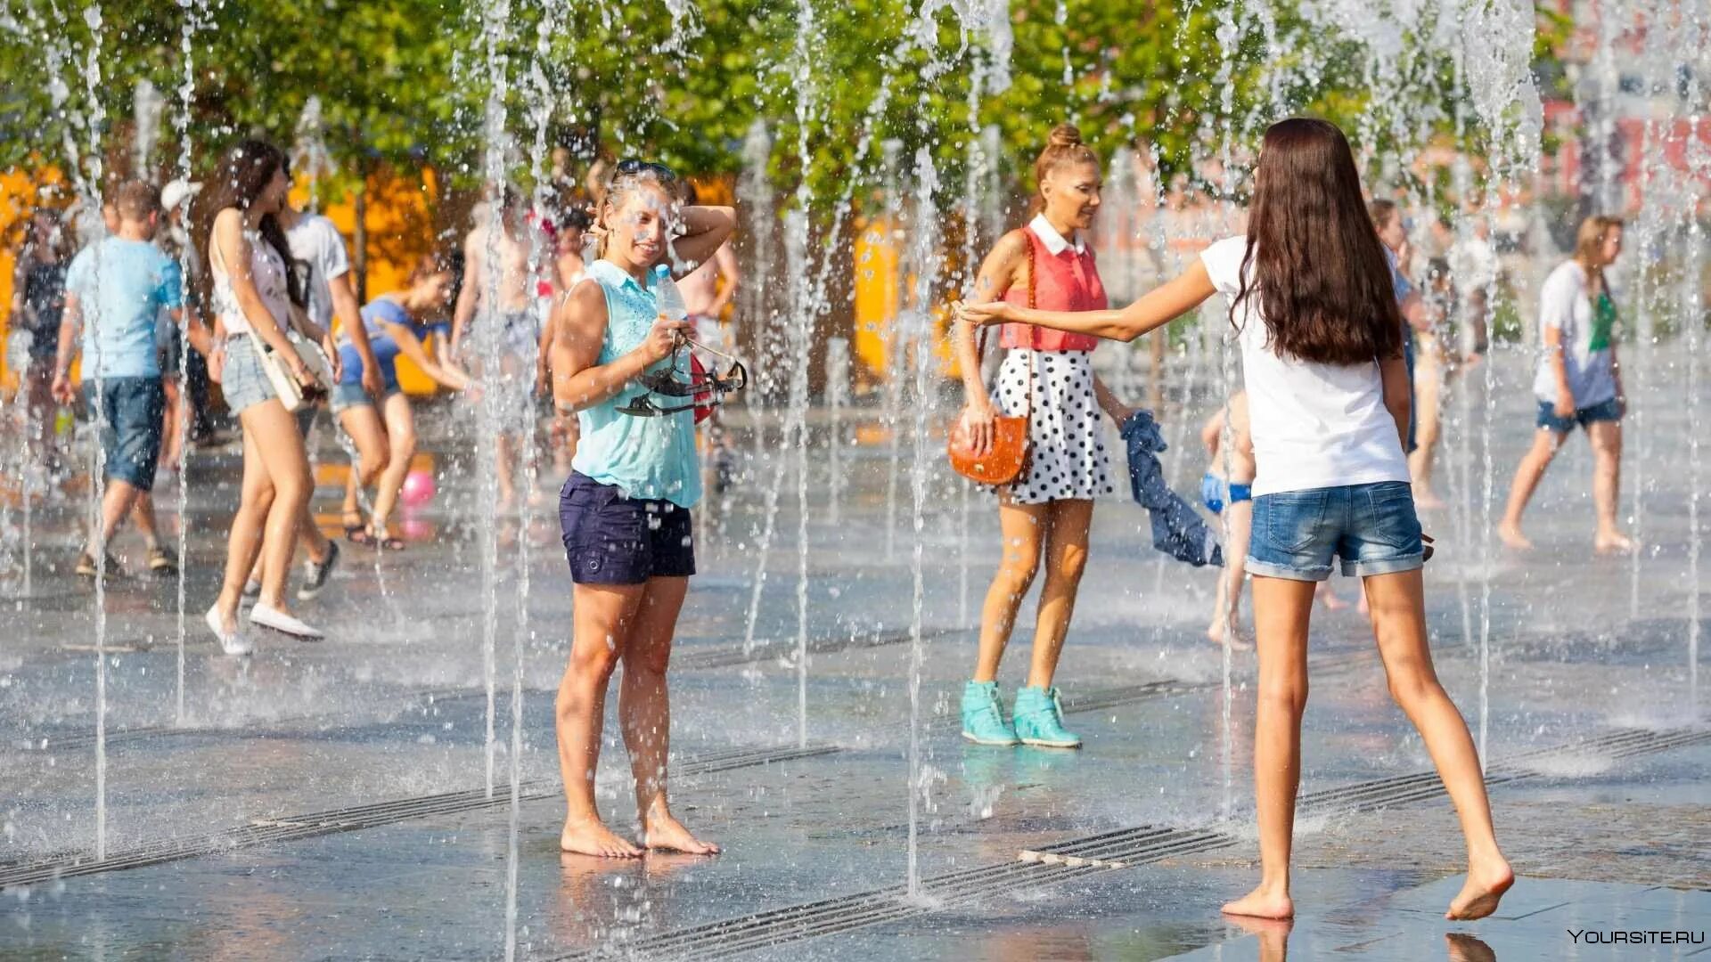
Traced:
<path fill-rule="evenodd" d="M 149 570 L 171 575 L 178 558 L 156 532 L 154 469 L 161 457 L 161 419 L 166 392 L 154 344 L 156 320 L 169 312 L 173 324 L 185 322 L 183 281 L 178 264 L 154 246 L 161 219 L 161 192 L 137 180 L 113 193 L 118 229 L 77 253 L 65 277 L 65 313 L 60 320 L 60 349 L 53 394 L 62 402 L 75 399 L 72 359 L 79 354 L 82 329 L 82 382 L 87 404 L 101 419 L 106 496 L 101 502 L 101 531 L 91 532 L 89 548 L 77 558 L 77 573 L 94 577 L 103 548 L 128 514 L 135 514 L 149 549 Z M 192 325 L 192 339 L 202 339 Z M 205 346 L 204 346 L 205 347 Z M 116 573 L 111 556 L 108 570 Z"/>

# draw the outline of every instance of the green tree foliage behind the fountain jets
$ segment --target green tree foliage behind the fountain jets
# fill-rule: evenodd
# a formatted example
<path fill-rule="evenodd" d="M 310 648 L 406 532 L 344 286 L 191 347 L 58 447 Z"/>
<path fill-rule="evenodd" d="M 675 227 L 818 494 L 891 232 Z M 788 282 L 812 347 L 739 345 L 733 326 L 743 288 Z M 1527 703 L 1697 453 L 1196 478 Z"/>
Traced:
<path fill-rule="evenodd" d="M 310 98 L 322 108 L 335 168 L 354 176 L 373 164 L 431 164 L 465 187 L 479 183 L 488 45 L 483 15 L 505 0 L 108 0 L 101 31 L 86 12 L 94 0 L 10 0 L 0 19 L 0 166 L 62 163 L 67 134 L 91 140 L 92 106 L 84 63 L 98 50 L 104 108 L 103 142 L 115 164 L 130 137 L 132 91 L 149 79 L 178 111 L 180 50 L 192 36 L 190 139 L 205 168 L 226 142 L 262 134 L 296 137 Z M 1252 17 L 1223 14 L 1228 58 L 1218 41 L 1220 9 L 1186 0 L 1013 0 L 1009 84 L 994 91 L 984 0 L 640 0 L 559 3 L 510 0 L 501 7 L 515 147 L 506 164 L 527 168 L 534 142 L 532 75 L 551 91 L 548 142 L 589 157 L 595 151 L 645 154 L 688 171 L 741 166 L 741 144 L 756 118 L 772 125 L 772 173 L 785 188 L 806 178 L 809 195 L 835 199 L 852 164 L 878 163 L 879 140 L 898 140 L 905 157 L 934 152 L 944 183 L 956 180 L 972 130 L 998 125 L 1004 164 L 1025 168 L 1059 120 L 1076 122 L 1102 152 L 1121 144 L 1157 145 L 1163 166 L 1187 169 L 1196 144 L 1217 130 L 1251 132 L 1276 104 L 1263 65 L 1311 58 L 1311 89 L 1288 91 L 1285 106 L 1335 120 L 1364 111 L 1384 139 L 1403 134 L 1371 118 L 1371 77 L 1347 39 L 1312 36 L 1282 5 L 1288 46 L 1271 46 Z M 999 9 L 1004 9 L 1003 5 Z M 537 27 L 549 31 L 539 55 Z M 799 27 L 802 45 L 797 43 Z M 1442 60 L 1442 56 L 1439 56 Z M 1444 75 L 1430 58 L 1412 75 Z M 56 84 L 63 103 L 55 104 Z M 970 123 L 968 99 L 979 87 Z M 1442 84 L 1449 96 L 1449 86 Z M 1448 111 L 1425 115 L 1448 125 Z M 178 154 L 171 122 L 156 157 Z M 1353 128 L 1352 128 L 1353 130 Z M 1417 134 L 1417 132 L 1408 132 Z M 804 149 L 806 145 L 806 149 Z M 1374 144 L 1377 145 L 1377 144 Z"/>

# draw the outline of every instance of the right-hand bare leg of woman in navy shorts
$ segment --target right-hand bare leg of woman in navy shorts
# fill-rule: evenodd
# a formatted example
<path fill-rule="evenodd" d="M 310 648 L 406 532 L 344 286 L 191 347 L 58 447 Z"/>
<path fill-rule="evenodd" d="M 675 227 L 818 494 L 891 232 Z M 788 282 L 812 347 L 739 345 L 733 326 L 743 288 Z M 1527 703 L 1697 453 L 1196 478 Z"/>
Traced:
<path fill-rule="evenodd" d="M 719 846 L 703 842 L 672 818 L 666 799 L 666 760 L 671 750 L 671 693 L 666 668 L 671 662 L 671 637 L 683 611 L 690 579 L 650 579 L 636 609 L 630 645 L 625 649 L 625 678 L 618 690 L 618 721 L 630 750 L 630 772 L 636 787 L 636 817 L 642 820 L 642 844 L 648 849 L 719 854 Z"/>

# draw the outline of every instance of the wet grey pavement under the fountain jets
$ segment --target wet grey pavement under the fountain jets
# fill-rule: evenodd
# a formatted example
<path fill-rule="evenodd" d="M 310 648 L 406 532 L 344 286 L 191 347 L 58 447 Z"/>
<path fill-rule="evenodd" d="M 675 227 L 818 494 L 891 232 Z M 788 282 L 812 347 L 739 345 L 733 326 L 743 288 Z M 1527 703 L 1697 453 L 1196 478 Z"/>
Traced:
<path fill-rule="evenodd" d="M 1477 736 L 1483 729 L 1499 837 L 1521 875 L 1494 919 L 1441 917 L 1463 858 L 1454 815 L 1389 702 L 1353 608 L 1321 611 L 1314 623 L 1297 827 L 1300 917 L 1288 931 L 1247 931 L 1218 917 L 1217 906 L 1256 878 L 1252 656 L 1234 654 L 1225 685 L 1222 652 L 1203 635 L 1215 575 L 1162 565 L 1141 534 L 1145 515 L 1124 500 L 1098 508 L 1059 674 L 1069 727 L 1086 748 L 965 745 L 955 710 L 974 657 L 968 613 L 979 608 L 996 539 L 991 507 L 975 495 L 965 541 L 963 498 L 941 474 L 936 442 L 919 519 L 922 765 L 912 775 L 912 455 L 905 445 L 890 512 L 890 448 L 873 411 L 859 418 L 867 443 L 844 452 L 835 515 L 830 459 L 821 450 L 809 459 L 806 558 L 797 551 L 796 479 L 775 474 L 794 459 L 780 462 L 773 452 L 775 428 L 767 440 L 739 431 L 744 481 L 724 510 L 705 517 L 702 575 L 672 668 L 672 796 L 679 815 L 725 854 L 642 863 L 561 856 L 551 702 L 568 645 L 570 585 L 551 510 L 558 478 L 544 469 L 542 503 L 500 519 L 489 601 L 467 423 L 429 406 L 424 464 L 441 471 L 441 491 L 406 515 L 409 549 L 385 558 L 347 551 L 334 587 L 296 606 L 329 640 L 262 637 L 248 661 L 216 654 L 197 630 L 217 587 L 236 462 L 219 452 L 192 460 L 181 686 L 176 580 L 108 585 L 104 861 L 92 858 L 98 618 L 87 585 L 68 575 L 80 505 L 36 508 L 31 591 L 7 582 L 0 609 L 0 957 L 491 959 L 503 957 L 508 929 L 527 959 L 1704 952 L 1711 729 L 1689 613 L 1706 579 L 1694 570 L 1692 466 L 1680 445 L 1697 404 L 1684 404 L 1672 378 L 1667 370 L 1648 378 L 1627 442 L 1627 479 L 1643 484 L 1646 548 L 1637 561 L 1590 551 L 1591 466 L 1579 438 L 1528 515 L 1538 549 L 1485 551 L 1485 514 L 1475 503 L 1487 433 L 1478 390 L 1471 423 L 1446 428 L 1441 490 L 1471 490 L 1473 498 L 1425 515 L 1439 543 L 1427 604 L 1441 676 Z M 1501 402 L 1489 423 L 1490 464 L 1501 498 L 1528 442 L 1531 402 L 1526 371 L 1513 359 L 1499 363 L 1494 380 Z M 1169 413 L 1172 426 L 1189 426 L 1186 445 L 1206 406 L 1194 397 L 1187 414 Z M 1454 416 L 1458 402 L 1448 407 Z M 826 421 L 814 413 L 816 442 Z M 330 510 L 340 457 L 325 425 L 320 448 L 317 507 Z M 1199 452 L 1174 454 L 1167 462 L 1179 490 L 1193 490 Z M 1461 466 L 1468 484 L 1456 484 Z M 768 536 L 773 478 L 780 496 Z M 164 490 L 161 503 L 176 532 L 176 490 Z M 3 524 L 15 529 L 17 507 L 9 510 Z M 334 527 L 337 517 L 323 522 Z M 116 549 L 140 556 L 140 544 L 125 537 Z M 529 573 L 522 630 L 520 570 Z M 796 656 L 799 585 L 804 673 Z M 1352 580 L 1335 587 L 1353 599 Z M 494 613 L 496 642 L 491 750 L 486 611 Z M 1027 642 L 1018 632 L 1006 690 L 1020 683 Z M 508 745 L 518 664 L 512 926 Z M 616 724 L 607 736 L 601 805 L 626 827 Z M 907 871 L 910 791 L 921 793 L 915 885 Z M 1035 854 L 1025 861 L 1023 852 Z M 1571 931 L 1583 931 L 1581 940 Z M 1649 931 L 1682 931 L 1685 941 L 1634 947 L 1584 935 Z"/>

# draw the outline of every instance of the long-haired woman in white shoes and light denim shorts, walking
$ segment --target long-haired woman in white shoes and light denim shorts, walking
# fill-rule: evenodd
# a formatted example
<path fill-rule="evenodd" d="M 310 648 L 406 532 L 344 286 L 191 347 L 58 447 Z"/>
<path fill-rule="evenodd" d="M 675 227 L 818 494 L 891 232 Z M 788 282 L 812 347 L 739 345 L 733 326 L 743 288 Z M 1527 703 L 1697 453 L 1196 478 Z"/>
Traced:
<path fill-rule="evenodd" d="M 207 303 L 224 332 L 222 347 L 217 347 L 224 353 L 221 390 L 243 426 L 243 495 L 226 543 L 226 582 L 207 613 L 209 630 L 226 654 L 252 650 L 238 606 L 263 548 L 262 594 L 250 609 L 250 623 L 299 638 L 322 637 L 286 611 L 286 575 L 298 544 L 298 519 L 315 483 L 303 435 L 267 380 L 257 344 L 260 339 L 270 347 L 303 387 L 317 382 L 286 330 L 296 325 L 332 354 L 327 332 L 303 315 L 303 289 L 287 267 L 291 246 L 277 214 L 289 192 L 284 152 L 263 140 L 245 140 L 221 161 L 197 219 L 197 233 L 207 238 L 202 245 L 202 276 L 210 284 Z"/>

